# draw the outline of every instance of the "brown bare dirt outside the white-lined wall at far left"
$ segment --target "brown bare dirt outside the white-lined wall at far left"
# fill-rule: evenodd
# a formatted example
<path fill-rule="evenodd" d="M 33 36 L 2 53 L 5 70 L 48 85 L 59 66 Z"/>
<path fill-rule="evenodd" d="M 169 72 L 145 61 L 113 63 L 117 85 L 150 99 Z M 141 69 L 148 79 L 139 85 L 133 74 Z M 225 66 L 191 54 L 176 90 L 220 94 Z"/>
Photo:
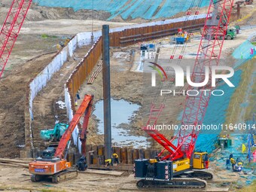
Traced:
<path fill-rule="evenodd" d="M 0 154 L 1 157 L 18 157 L 25 145 L 24 103 L 26 85 L 44 69 L 54 53 L 40 56 L 31 62 L 14 66 L 11 75 L 1 79 L 0 90 Z M 10 150 L 11 149 L 11 150 Z"/>

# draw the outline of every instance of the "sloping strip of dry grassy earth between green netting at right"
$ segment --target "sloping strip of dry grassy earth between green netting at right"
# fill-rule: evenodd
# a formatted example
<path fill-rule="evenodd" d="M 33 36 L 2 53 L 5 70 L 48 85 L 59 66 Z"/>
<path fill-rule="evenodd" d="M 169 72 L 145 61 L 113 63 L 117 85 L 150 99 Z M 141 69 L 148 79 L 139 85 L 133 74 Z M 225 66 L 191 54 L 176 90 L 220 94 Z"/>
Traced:
<path fill-rule="evenodd" d="M 224 124 L 237 123 L 237 120 L 239 120 L 239 114 L 241 114 L 242 111 L 240 105 L 242 102 L 244 102 L 245 94 L 248 91 L 248 84 L 250 84 L 251 75 L 254 69 L 252 60 L 242 65 L 241 69 L 241 82 L 239 84 L 239 87 L 236 88 L 235 93 L 233 93 L 232 98 L 230 99 L 230 104 L 227 108 L 227 116 Z M 251 106 L 251 110 L 252 109 L 253 106 Z"/>

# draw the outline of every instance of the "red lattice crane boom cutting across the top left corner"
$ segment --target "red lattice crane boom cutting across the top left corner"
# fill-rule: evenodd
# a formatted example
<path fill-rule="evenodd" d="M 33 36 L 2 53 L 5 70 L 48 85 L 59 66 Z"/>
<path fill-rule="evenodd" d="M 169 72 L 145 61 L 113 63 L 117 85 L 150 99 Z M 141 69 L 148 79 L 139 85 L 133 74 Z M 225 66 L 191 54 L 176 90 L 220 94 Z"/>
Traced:
<path fill-rule="evenodd" d="M 32 0 L 14 0 L 0 32 L 0 78 L 29 11 Z"/>

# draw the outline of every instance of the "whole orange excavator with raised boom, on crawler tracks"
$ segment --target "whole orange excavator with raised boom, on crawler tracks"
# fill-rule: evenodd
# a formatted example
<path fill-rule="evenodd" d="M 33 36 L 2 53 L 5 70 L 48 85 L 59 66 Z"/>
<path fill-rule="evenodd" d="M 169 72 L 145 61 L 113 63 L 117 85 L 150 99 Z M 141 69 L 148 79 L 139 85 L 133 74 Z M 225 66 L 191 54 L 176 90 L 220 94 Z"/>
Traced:
<path fill-rule="evenodd" d="M 45 178 L 51 178 L 53 183 L 60 181 L 69 180 L 78 176 L 78 171 L 72 169 L 71 163 L 66 160 L 68 154 L 67 145 L 70 145 L 70 139 L 75 126 L 79 123 L 81 116 L 84 114 L 84 123 L 82 126 L 80 140 L 81 140 L 81 160 L 84 161 L 78 163 L 78 169 L 86 169 L 86 137 L 87 137 L 87 126 L 89 123 L 89 117 L 93 105 L 93 96 L 85 95 L 84 100 L 81 103 L 78 110 L 75 112 L 72 121 L 69 124 L 68 129 L 62 135 L 57 148 L 49 146 L 43 151 L 42 156 L 29 163 L 29 172 L 32 173 L 31 181 L 41 181 Z M 69 148 L 69 147 L 68 147 Z M 80 166 L 79 166 L 80 165 Z"/>

